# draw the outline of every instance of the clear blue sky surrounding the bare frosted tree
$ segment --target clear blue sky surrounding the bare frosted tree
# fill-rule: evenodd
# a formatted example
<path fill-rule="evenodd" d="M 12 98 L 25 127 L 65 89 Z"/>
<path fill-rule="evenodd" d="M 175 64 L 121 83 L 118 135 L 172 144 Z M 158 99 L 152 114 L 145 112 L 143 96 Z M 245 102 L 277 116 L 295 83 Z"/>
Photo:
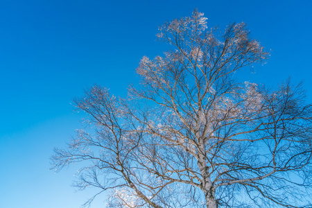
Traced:
<path fill-rule="evenodd" d="M 205 13 L 208 26 L 245 21 L 271 57 L 240 80 L 304 80 L 312 103 L 312 1 L 0 0 L 0 207 L 80 207 L 96 190 L 71 187 L 75 166 L 49 171 L 83 114 L 71 100 L 94 84 L 125 96 L 142 56 L 162 55 L 164 21 Z M 254 72 L 254 73 L 252 73 Z M 105 207 L 105 195 L 91 208 Z"/>

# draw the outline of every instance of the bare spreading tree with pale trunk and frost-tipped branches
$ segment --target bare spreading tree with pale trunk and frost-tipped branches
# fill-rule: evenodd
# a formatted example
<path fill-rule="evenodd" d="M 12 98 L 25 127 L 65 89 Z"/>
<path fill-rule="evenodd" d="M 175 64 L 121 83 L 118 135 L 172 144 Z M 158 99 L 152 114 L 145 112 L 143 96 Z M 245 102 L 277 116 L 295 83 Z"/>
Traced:
<path fill-rule="evenodd" d="M 244 23 L 220 33 L 194 10 L 157 37 L 173 49 L 142 58 L 128 97 L 96 85 L 74 100 L 88 125 L 55 149 L 53 168 L 82 163 L 76 185 L 108 191 L 111 207 L 311 206 L 312 106 L 302 84 L 234 79 L 268 59 Z"/>

